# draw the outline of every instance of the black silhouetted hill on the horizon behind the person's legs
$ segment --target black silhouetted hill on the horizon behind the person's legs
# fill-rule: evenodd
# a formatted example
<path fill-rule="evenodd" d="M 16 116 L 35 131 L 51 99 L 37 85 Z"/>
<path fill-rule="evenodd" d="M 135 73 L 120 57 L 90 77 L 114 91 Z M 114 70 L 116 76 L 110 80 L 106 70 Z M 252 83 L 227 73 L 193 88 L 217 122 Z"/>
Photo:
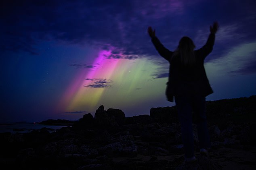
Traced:
<path fill-rule="evenodd" d="M 256 95 L 233 99 L 206 101 L 206 115 L 209 124 L 219 124 L 220 128 L 229 122 L 255 122 Z M 178 122 L 176 106 L 151 108 L 154 122 Z"/>

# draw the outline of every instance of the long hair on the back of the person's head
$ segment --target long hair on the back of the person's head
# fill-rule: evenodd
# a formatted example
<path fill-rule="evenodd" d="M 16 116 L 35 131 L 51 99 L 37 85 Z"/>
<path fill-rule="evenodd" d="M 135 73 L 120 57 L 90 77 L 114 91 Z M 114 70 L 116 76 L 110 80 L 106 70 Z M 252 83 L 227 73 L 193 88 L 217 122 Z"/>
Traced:
<path fill-rule="evenodd" d="M 194 54 L 195 44 L 189 37 L 182 37 L 179 41 L 178 48 L 174 51 L 173 58 L 180 56 L 180 62 L 184 66 L 192 66 L 195 64 Z"/>

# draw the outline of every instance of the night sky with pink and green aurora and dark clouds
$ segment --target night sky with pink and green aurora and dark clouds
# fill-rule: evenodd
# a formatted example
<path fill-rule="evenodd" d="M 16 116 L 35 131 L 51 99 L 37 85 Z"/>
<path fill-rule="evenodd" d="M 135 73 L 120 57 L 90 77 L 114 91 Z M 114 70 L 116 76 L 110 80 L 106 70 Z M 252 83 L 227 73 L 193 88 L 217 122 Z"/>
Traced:
<path fill-rule="evenodd" d="M 169 50 L 196 49 L 220 27 L 205 60 L 214 93 L 256 95 L 255 0 L 5 0 L 0 9 L 0 122 L 78 120 L 104 105 L 126 116 L 174 106 L 165 96 Z"/>

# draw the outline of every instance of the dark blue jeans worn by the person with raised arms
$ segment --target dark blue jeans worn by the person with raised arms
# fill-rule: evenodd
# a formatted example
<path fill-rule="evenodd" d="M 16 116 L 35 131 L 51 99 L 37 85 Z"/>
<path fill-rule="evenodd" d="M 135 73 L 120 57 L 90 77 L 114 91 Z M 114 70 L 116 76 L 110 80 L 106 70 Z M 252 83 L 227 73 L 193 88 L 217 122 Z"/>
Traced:
<path fill-rule="evenodd" d="M 210 148 L 210 136 L 206 122 L 206 99 L 200 95 L 180 95 L 175 96 L 174 99 L 180 120 L 185 158 L 191 158 L 194 156 L 192 113 L 195 114 L 200 149 Z"/>

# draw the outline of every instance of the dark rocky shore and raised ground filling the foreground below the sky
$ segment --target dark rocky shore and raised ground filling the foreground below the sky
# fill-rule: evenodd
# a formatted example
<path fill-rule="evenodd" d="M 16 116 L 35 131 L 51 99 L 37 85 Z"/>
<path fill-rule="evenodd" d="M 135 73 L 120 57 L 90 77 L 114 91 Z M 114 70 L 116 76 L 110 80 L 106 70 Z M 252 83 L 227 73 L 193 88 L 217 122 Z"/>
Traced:
<path fill-rule="evenodd" d="M 1 133 L 0 166 L 38 170 L 251 170 L 256 168 L 256 96 L 207 103 L 212 148 L 184 164 L 176 108 L 126 117 L 100 106 L 72 126 L 50 133 Z"/>

